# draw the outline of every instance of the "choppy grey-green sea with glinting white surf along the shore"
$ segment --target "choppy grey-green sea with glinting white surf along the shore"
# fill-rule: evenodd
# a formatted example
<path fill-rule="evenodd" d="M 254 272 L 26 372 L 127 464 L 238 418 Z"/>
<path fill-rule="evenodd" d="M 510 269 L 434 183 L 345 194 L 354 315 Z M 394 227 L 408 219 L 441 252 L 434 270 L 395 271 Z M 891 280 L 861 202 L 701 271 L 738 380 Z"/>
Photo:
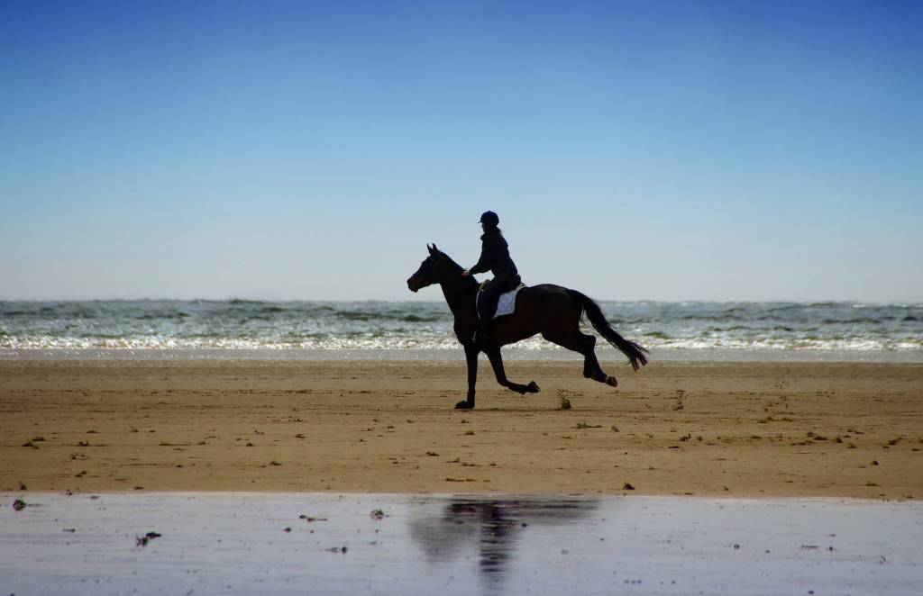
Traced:
<path fill-rule="evenodd" d="M 923 361 L 923 304 L 600 304 L 621 335 L 653 354 L 883 353 Z M 442 302 L 8 301 L 0 302 L 0 354 L 459 351 L 451 324 Z M 516 349 L 565 353 L 540 337 Z"/>

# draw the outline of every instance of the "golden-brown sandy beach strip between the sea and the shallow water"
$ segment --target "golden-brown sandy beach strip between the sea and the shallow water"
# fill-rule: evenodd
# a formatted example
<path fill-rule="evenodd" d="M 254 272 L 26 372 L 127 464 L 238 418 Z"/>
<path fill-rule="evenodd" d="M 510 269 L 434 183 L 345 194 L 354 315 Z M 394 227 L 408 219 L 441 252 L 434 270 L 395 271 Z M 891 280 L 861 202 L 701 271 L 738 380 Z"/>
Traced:
<path fill-rule="evenodd" d="M 603 364 L 0 360 L 0 490 L 923 497 L 923 365 Z"/>

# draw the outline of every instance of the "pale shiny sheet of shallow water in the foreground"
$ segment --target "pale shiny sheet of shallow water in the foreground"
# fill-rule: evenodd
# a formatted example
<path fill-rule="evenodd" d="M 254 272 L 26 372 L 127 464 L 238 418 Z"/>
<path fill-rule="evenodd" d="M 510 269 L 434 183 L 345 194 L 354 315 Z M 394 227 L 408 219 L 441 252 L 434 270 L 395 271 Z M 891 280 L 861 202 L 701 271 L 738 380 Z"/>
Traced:
<path fill-rule="evenodd" d="M 0 493 L 0 501 L 16 495 Z M 25 500 L 18 511 L 0 507 L 3 593 L 923 590 L 918 501 L 329 493 Z"/>

